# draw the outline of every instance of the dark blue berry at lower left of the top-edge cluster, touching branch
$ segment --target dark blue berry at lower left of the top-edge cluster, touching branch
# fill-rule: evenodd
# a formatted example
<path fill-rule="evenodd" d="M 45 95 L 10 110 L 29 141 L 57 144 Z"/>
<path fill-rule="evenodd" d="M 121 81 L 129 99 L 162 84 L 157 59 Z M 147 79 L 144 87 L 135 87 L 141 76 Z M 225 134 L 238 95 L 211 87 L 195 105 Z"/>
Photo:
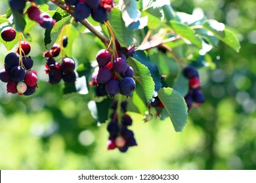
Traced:
<path fill-rule="evenodd" d="M 91 8 L 84 2 L 79 2 L 74 8 L 74 18 L 76 21 L 84 20 L 88 18 L 91 13 Z"/>

